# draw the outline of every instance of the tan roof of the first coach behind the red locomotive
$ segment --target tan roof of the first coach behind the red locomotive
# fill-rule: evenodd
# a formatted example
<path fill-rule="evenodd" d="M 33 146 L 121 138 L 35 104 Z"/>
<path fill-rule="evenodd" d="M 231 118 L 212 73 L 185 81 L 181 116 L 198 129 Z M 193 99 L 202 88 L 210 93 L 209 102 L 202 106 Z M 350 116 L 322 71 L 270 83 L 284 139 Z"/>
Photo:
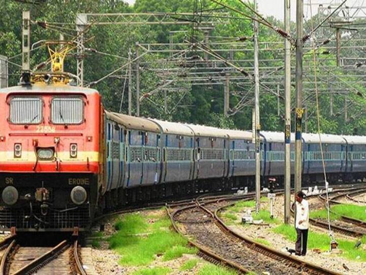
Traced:
<path fill-rule="evenodd" d="M 105 113 L 108 119 L 115 121 L 128 129 L 160 133 L 158 124 L 151 120 L 107 111 L 105 111 Z"/>

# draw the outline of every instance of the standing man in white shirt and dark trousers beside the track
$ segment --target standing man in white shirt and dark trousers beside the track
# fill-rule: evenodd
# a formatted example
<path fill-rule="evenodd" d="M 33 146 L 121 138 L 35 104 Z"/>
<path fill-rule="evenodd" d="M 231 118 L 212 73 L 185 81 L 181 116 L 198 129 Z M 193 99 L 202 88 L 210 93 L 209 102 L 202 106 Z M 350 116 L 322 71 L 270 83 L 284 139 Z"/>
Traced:
<path fill-rule="evenodd" d="M 295 229 L 297 233 L 295 254 L 297 256 L 305 256 L 308 245 L 308 231 L 309 231 L 309 203 L 304 199 L 305 194 L 299 191 L 295 195 L 296 205 L 296 220 Z"/>

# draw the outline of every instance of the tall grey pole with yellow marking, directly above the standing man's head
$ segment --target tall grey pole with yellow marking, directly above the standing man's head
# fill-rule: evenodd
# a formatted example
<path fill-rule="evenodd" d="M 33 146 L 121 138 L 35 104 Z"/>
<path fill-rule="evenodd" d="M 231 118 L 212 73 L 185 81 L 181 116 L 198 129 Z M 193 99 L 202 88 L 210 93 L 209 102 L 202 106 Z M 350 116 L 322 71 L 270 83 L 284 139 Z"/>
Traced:
<path fill-rule="evenodd" d="M 301 190 L 302 141 L 302 36 L 303 0 L 296 0 L 296 109 L 295 109 L 295 194 Z"/>

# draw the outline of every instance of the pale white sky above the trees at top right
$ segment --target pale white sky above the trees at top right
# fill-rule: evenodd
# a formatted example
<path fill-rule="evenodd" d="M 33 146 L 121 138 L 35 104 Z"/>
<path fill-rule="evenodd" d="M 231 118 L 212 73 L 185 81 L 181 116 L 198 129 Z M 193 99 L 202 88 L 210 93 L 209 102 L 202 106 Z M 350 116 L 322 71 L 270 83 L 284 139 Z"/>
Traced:
<path fill-rule="evenodd" d="M 135 0 L 125 0 L 129 4 L 134 4 Z M 164 1 L 164 0 L 161 0 Z M 193 1 L 193 0 L 192 0 Z M 296 0 L 291 1 L 291 20 L 296 20 Z M 331 5 L 340 4 L 341 0 L 304 0 L 304 15 L 306 18 L 311 17 L 312 14 L 316 14 L 318 11 L 319 4 L 324 7 Z M 259 12 L 265 16 L 275 16 L 277 19 L 283 20 L 284 18 L 284 0 L 257 0 Z M 312 5 L 310 5 L 312 3 Z M 362 5 L 363 4 L 363 5 Z M 355 5 L 366 6 L 366 0 L 347 0 L 345 5 L 354 7 Z M 310 7 L 312 7 L 310 9 Z"/>

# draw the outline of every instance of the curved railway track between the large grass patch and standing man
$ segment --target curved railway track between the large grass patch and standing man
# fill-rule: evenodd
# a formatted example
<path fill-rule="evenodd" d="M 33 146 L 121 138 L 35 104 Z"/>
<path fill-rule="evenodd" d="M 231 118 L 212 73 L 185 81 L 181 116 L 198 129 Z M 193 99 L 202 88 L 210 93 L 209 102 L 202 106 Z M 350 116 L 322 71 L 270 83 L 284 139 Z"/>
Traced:
<path fill-rule="evenodd" d="M 246 199 L 253 199 L 253 196 L 248 195 Z M 339 274 L 268 248 L 232 231 L 218 215 L 223 208 L 232 204 L 229 203 L 230 200 L 234 199 L 198 197 L 194 203 L 185 207 L 173 210 L 168 205 L 166 209 L 178 233 L 182 234 L 176 221 L 184 224 L 185 235 L 197 239 L 190 241 L 190 244 L 196 246 L 204 258 L 222 263 L 240 273 Z"/>

